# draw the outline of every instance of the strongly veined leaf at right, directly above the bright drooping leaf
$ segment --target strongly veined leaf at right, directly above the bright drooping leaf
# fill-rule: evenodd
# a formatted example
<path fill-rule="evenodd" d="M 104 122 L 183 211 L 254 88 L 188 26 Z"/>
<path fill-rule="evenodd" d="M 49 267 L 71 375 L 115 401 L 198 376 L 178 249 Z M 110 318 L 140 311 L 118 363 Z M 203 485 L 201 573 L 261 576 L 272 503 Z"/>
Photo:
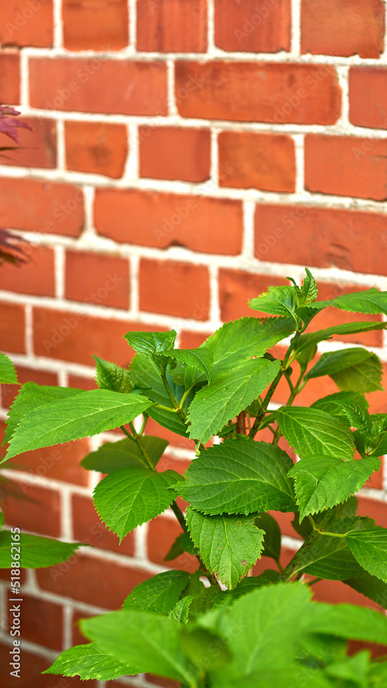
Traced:
<path fill-rule="evenodd" d="M 302 406 L 282 407 L 276 418 L 286 441 L 302 459 L 313 455 L 353 459 L 355 442 L 351 430 L 328 413 Z"/>

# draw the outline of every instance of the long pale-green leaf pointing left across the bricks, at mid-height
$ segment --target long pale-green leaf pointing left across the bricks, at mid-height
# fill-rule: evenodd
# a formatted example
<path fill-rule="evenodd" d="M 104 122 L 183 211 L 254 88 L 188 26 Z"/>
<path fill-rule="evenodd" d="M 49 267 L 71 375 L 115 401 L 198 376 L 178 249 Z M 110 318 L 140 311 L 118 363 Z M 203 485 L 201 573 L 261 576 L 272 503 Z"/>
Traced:
<path fill-rule="evenodd" d="M 134 420 L 151 403 L 140 394 L 92 389 L 46 404 L 23 416 L 10 440 L 7 458 L 111 430 Z"/>

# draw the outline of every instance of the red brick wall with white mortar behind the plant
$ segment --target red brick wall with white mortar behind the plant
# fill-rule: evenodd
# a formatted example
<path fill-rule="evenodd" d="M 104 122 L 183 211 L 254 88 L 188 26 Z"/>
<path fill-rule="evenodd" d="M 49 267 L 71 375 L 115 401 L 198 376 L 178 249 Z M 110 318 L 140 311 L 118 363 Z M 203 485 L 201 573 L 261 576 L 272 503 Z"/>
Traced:
<path fill-rule="evenodd" d="M 382 0 L 0 0 L 0 101 L 34 127 L 0 161 L 0 225 L 33 246 L 30 265 L 0 268 L 0 349 L 22 382 L 88 389 L 92 354 L 129 362 L 128 330 L 174 327 L 180 345 L 198 345 L 305 265 L 322 298 L 387 289 L 385 10 Z M 380 332 L 351 341 L 387 361 Z M 311 383 L 300 402 L 334 389 Z M 1 418 L 13 394 L 1 390 Z M 386 398 L 370 394 L 373 411 Z M 163 515 L 118 549 L 92 508 L 95 477 L 79 468 L 101 441 L 19 458 L 34 502 L 8 502 L 7 522 L 97 547 L 26 575 L 19 686 L 81 685 L 39 671 L 81 642 L 74 621 L 117 608 L 163 570 L 178 533 Z M 191 455 L 175 437 L 165 461 L 183 470 Z M 382 525 L 385 499 L 380 474 L 361 502 Z M 282 525 L 289 557 L 297 541 Z M 319 594 L 365 601 L 340 583 Z M 6 638 L 4 610 L 1 628 Z"/>

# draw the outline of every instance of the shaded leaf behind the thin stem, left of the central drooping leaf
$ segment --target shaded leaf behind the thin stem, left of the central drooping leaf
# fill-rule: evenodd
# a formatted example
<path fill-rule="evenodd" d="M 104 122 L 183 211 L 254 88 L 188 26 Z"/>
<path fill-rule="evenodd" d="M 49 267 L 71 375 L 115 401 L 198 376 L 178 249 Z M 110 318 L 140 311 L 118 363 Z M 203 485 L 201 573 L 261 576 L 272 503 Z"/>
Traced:
<path fill-rule="evenodd" d="M 148 356 L 145 354 L 136 354 L 130 367 L 130 374 L 133 382 L 138 385 L 138 388 L 140 388 L 137 391 L 141 391 L 141 393 L 145 394 L 156 404 L 161 404 L 171 409 L 171 411 L 173 410 L 171 400 L 168 396 L 167 390 L 164 387 L 158 367 L 156 363 L 151 360 L 151 358 L 148 358 Z M 167 380 L 169 387 L 171 387 L 171 391 L 176 399 L 180 402 L 180 399 L 185 391 L 184 386 L 176 385 L 168 371 Z M 185 405 L 184 408 L 187 409 L 187 405 Z M 156 420 L 156 422 L 163 427 L 166 427 L 168 430 L 171 430 L 178 435 L 182 435 L 183 437 L 188 437 L 187 427 L 177 413 L 171 413 L 170 411 L 164 411 L 163 409 L 158 409 L 156 407 L 147 409 L 147 413 L 149 413 L 151 418 Z"/>

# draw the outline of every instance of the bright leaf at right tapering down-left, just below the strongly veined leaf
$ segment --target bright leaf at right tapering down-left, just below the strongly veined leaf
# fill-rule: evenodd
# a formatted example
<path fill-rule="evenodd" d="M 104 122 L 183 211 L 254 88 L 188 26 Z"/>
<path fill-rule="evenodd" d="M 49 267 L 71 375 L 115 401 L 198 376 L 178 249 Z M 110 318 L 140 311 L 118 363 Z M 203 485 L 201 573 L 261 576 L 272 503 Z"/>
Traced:
<path fill-rule="evenodd" d="M 346 502 L 380 468 L 380 460 L 368 457 L 342 461 L 334 456 L 308 456 L 289 471 L 295 483 L 300 520 L 308 514 Z"/>

